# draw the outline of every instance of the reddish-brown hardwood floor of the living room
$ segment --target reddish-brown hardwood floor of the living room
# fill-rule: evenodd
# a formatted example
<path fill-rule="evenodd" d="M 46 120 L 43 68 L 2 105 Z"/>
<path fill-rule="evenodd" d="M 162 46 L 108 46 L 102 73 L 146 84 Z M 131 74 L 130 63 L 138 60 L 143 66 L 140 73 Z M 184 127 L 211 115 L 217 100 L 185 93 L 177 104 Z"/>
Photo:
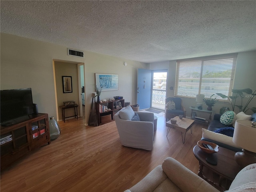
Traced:
<path fill-rule="evenodd" d="M 123 192 L 168 156 L 198 173 L 193 147 L 206 124 L 195 122 L 193 134 L 171 129 L 158 118 L 152 151 L 121 145 L 115 122 L 84 126 L 84 118 L 59 122 L 61 135 L 1 172 L 1 192 Z"/>

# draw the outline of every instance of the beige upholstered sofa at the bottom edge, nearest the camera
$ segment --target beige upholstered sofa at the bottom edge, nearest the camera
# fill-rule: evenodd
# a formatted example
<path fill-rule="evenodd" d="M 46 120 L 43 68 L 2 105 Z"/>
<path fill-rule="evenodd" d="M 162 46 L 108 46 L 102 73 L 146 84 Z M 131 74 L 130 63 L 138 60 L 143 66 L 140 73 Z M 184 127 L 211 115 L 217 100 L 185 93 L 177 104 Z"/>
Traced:
<path fill-rule="evenodd" d="M 168 157 L 146 177 L 125 192 L 219 192 L 216 188 Z M 256 164 L 243 168 L 226 192 L 256 192 Z"/>

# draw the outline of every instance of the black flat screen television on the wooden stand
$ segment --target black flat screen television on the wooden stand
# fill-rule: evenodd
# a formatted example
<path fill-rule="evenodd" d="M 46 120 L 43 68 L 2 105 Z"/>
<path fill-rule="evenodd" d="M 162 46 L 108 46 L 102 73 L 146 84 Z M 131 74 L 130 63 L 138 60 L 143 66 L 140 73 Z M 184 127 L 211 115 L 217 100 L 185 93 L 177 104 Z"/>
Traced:
<path fill-rule="evenodd" d="M 1 90 L 0 98 L 1 124 L 9 121 L 15 123 L 17 118 L 28 118 L 33 114 L 31 88 Z"/>

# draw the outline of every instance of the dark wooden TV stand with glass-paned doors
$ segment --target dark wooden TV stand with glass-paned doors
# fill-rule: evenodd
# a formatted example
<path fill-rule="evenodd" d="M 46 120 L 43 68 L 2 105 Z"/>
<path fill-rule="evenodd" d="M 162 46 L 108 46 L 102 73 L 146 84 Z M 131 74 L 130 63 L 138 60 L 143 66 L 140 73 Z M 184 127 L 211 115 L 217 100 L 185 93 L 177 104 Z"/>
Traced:
<path fill-rule="evenodd" d="M 1 170 L 30 151 L 50 144 L 48 114 L 30 115 L 27 119 L 0 127 Z"/>

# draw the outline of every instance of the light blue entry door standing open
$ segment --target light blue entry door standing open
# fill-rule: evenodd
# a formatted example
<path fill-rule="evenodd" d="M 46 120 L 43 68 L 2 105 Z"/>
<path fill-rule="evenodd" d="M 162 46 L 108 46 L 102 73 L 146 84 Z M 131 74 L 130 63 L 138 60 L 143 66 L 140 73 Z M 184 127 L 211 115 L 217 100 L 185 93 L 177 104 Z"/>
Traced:
<path fill-rule="evenodd" d="M 148 109 L 151 105 L 152 70 L 138 69 L 137 104 L 140 110 Z"/>

